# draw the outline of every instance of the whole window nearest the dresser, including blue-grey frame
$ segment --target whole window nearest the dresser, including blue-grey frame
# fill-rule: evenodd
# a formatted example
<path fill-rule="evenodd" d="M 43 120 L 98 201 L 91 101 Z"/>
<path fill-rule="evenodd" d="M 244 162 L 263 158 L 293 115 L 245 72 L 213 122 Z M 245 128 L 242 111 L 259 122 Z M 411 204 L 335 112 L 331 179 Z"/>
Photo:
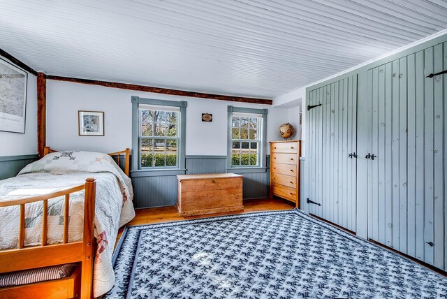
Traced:
<path fill-rule="evenodd" d="M 228 106 L 228 168 L 264 167 L 267 110 Z"/>

